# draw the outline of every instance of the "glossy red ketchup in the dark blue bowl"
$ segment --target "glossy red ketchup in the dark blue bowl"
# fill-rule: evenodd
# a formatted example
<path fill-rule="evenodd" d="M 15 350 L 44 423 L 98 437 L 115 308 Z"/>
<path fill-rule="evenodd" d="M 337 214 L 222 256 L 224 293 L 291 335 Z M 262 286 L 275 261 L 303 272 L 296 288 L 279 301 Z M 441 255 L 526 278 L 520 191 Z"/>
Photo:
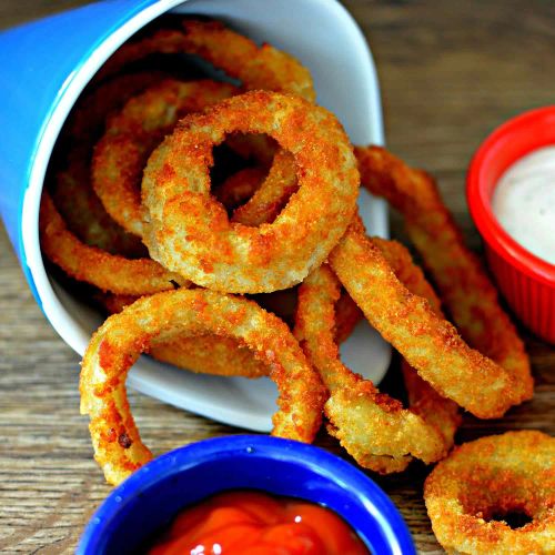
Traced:
<path fill-rule="evenodd" d="M 255 492 L 229 492 L 182 511 L 150 555 L 369 555 L 332 511 Z"/>

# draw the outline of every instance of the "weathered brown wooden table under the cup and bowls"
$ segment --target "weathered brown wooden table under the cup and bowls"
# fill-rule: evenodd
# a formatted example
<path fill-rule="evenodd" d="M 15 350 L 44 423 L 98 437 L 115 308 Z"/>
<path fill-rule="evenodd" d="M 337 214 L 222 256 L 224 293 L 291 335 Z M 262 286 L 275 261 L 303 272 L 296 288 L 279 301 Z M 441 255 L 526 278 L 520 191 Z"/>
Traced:
<path fill-rule="evenodd" d="M 0 27 L 81 3 L 85 2 L 3 0 Z M 466 211 L 465 170 L 494 127 L 553 103 L 555 4 L 345 3 L 374 51 L 390 148 L 438 176 L 468 243 L 480 249 Z M 393 234 L 402 236 L 398 220 L 392 220 Z M 0 307 L 0 549 L 71 553 L 110 488 L 92 460 L 87 418 L 79 415 L 79 357 L 42 316 L 3 231 Z M 523 333 L 536 379 L 534 401 L 512 410 L 503 421 L 465 418 L 460 442 L 515 428 L 555 433 L 555 350 Z M 144 440 L 157 453 L 240 432 L 149 397 L 131 393 L 131 401 Z M 320 443 L 336 450 L 330 440 L 322 437 Z M 403 513 L 418 549 L 441 552 L 422 501 L 426 473 L 416 465 L 401 476 L 377 481 Z"/>

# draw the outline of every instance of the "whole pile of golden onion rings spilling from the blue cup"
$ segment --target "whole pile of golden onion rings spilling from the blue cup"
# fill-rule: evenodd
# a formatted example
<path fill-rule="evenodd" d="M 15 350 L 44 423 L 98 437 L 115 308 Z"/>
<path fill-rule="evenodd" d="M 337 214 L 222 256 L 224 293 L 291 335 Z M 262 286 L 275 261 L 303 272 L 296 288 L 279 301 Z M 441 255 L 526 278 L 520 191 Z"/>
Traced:
<path fill-rule="evenodd" d="M 124 73 L 152 53 L 198 56 L 239 84 Z M 445 546 L 472 552 L 497 529 L 475 521 L 519 503 L 518 491 L 508 505 L 478 507 L 500 470 L 545 501 L 513 463 L 517 445 L 536 450 L 531 468 L 552 480 L 552 440 L 507 434 L 476 442 L 480 461 L 474 444 L 445 458 L 460 407 L 501 417 L 532 396 L 533 381 L 515 327 L 430 175 L 382 148 L 353 148 L 315 103 L 306 68 L 219 22 L 185 20 L 124 44 L 91 87 L 62 135 L 72 148 L 44 192 L 40 234 L 47 258 L 95 287 L 110 314 L 87 349 L 80 385 L 110 483 L 152 456 L 125 393 L 129 369 L 148 353 L 192 372 L 270 376 L 280 392 L 273 434 L 312 442 L 325 417 L 374 472 L 443 460 L 426 504 Z M 219 157 L 231 162 L 219 168 Z M 360 184 L 402 212 L 440 296 L 405 248 L 366 235 Z M 362 317 L 402 355 L 406 406 L 342 363 L 337 345 Z M 457 482 L 465 463 L 477 471 Z M 484 491 L 472 501 L 474 486 Z M 535 522 L 553 523 L 526 503 Z M 474 544 L 465 543 L 467 516 Z M 534 526 L 522 545 L 549 545 L 544 529 Z"/>

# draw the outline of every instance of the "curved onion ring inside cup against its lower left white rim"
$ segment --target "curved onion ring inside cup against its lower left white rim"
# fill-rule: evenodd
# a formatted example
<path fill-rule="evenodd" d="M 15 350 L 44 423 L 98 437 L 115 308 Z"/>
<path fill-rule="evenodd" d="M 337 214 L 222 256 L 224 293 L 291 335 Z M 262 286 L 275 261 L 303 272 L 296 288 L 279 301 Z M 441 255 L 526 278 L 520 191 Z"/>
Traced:
<path fill-rule="evenodd" d="M 186 282 L 150 259 L 129 260 L 83 244 L 65 226 L 50 195 L 43 191 L 39 230 L 48 259 L 68 275 L 91 283 L 102 291 L 142 295 L 172 290 Z"/>

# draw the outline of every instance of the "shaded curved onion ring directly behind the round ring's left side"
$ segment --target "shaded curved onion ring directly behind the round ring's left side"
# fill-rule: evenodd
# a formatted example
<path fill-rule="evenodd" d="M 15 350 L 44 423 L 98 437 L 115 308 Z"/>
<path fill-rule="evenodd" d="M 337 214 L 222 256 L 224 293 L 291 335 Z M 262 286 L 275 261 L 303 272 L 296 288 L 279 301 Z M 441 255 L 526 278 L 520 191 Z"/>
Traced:
<path fill-rule="evenodd" d="M 108 213 L 127 231 L 143 235 L 140 183 L 147 160 L 185 113 L 231 97 L 236 88 L 211 80 L 165 80 L 110 119 L 94 150 L 92 183 Z"/>

